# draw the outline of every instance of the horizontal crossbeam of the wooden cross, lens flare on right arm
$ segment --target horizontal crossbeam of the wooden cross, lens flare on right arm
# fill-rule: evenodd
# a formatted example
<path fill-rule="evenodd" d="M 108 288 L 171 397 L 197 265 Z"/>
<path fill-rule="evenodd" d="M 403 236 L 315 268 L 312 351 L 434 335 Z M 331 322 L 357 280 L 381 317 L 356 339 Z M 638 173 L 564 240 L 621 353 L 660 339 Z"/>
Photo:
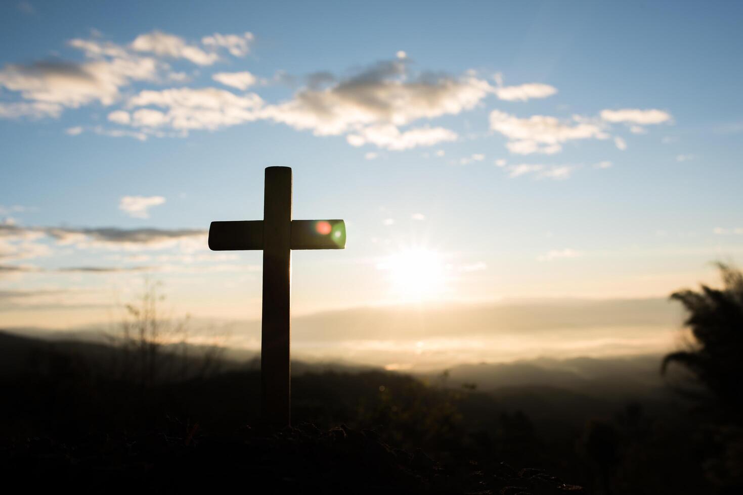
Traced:
<path fill-rule="evenodd" d="M 343 220 L 292 220 L 291 249 L 344 249 Z M 243 251 L 263 249 L 263 220 L 212 222 L 209 249 Z"/>

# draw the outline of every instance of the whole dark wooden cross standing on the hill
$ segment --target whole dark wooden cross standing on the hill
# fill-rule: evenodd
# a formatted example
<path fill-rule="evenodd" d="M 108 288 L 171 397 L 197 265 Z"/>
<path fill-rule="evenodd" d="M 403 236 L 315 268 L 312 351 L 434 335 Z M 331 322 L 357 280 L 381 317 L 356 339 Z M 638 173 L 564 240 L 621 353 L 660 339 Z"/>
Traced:
<path fill-rule="evenodd" d="M 289 298 L 291 249 L 343 249 L 343 220 L 291 219 L 291 168 L 266 168 L 263 220 L 212 222 L 213 251 L 263 249 L 261 409 L 267 422 L 290 424 Z"/>

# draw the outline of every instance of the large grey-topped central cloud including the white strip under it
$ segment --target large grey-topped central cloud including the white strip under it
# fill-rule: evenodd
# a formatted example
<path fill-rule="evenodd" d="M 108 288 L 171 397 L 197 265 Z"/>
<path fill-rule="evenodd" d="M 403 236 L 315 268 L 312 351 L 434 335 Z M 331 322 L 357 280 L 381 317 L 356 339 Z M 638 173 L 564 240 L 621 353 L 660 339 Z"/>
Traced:
<path fill-rule="evenodd" d="M 293 99 L 268 106 L 264 117 L 318 136 L 351 134 L 354 145 L 406 149 L 455 140 L 456 134 L 444 128 L 395 128 L 470 110 L 492 92 L 487 81 L 470 74 L 411 73 L 406 59 L 378 62 L 347 79 L 325 80 L 325 87 L 308 86 Z"/>

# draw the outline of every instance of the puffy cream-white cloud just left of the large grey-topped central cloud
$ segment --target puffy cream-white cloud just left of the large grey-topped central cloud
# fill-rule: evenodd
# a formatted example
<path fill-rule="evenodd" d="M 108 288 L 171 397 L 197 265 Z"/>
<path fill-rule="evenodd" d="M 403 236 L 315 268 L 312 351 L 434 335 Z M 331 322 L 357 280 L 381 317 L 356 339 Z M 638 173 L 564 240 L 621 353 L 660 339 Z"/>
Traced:
<path fill-rule="evenodd" d="M 257 94 L 236 95 L 218 88 L 171 88 L 140 91 L 129 99 L 129 108 L 155 106 L 166 111 L 135 111 L 131 125 L 170 127 L 181 131 L 238 125 L 259 119 L 263 100 Z M 137 114 L 137 112 L 140 112 Z M 155 113 L 157 112 L 157 113 Z"/>

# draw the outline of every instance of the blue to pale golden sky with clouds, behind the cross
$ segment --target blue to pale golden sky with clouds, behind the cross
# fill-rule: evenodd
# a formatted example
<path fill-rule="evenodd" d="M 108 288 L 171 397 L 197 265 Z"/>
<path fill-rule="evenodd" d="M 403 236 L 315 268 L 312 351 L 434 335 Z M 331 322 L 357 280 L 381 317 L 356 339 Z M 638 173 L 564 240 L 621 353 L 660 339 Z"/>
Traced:
<path fill-rule="evenodd" d="M 111 323 L 145 277 L 174 314 L 258 320 L 261 252 L 206 232 L 262 217 L 271 165 L 294 218 L 347 226 L 293 253 L 297 317 L 655 300 L 742 258 L 737 2 L 0 13 L 3 328 Z"/>

